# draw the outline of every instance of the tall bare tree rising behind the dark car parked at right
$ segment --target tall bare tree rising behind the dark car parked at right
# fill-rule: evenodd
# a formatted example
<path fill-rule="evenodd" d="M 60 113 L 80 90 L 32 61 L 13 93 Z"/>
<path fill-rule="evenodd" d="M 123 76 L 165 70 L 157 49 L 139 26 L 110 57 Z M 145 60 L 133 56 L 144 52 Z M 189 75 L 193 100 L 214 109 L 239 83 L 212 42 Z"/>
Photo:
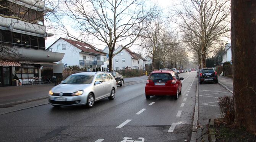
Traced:
<path fill-rule="evenodd" d="M 212 43 L 230 31 L 229 0 L 189 0 L 180 4 L 175 10 L 172 21 L 182 31 L 190 31 L 198 39 L 201 48 L 203 68 L 206 67 L 207 51 Z M 194 44 L 194 43 L 193 43 Z M 200 62 L 200 61 L 199 61 Z"/>

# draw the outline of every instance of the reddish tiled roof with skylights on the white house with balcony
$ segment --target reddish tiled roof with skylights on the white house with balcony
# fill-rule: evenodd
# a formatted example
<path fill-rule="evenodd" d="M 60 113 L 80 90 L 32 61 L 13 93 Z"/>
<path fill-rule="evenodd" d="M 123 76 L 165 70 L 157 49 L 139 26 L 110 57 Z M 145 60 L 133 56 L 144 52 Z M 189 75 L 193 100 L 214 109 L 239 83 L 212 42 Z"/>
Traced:
<path fill-rule="evenodd" d="M 74 40 L 66 39 L 66 38 L 61 38 L 61 39 L 65 40 L 66 42 L 68 42 L 70 44 L 72 44 L 73 46 L 77 47 L 78 49 L 81 49 L 83 52 L 106 55 L 104 53 L 101 53 L 101 52 L 103 52 L 103 50 L 97 49 L 96 47 L 92 46 L 91 44 L 80 42 L 80 41 L 74 41 Z M 99 50 L 101 52 L 97 52 L 96 50 L 94 50 L 92 48 L 94 48 L 96 50 Z"/>

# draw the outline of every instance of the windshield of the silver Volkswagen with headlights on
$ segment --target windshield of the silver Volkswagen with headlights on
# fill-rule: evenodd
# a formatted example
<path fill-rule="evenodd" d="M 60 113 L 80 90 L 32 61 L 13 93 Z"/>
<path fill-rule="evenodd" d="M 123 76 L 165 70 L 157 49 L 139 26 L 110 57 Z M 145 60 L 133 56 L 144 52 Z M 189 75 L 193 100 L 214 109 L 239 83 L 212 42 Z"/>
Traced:
<path fill-rule="evenodd" d="M 91 84 L 94 75 L 73 74 L 67 77 L 62 84 Z"/>

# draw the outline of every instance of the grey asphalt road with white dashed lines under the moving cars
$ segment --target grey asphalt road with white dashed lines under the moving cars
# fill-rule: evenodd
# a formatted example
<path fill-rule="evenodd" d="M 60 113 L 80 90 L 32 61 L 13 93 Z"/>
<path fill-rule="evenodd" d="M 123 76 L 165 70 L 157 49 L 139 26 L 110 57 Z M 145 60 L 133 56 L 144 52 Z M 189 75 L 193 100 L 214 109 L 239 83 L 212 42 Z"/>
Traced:
<path fill-rule="evenodd" d="M 102 99 L 91 109 L 45 104 L 0 115 L 0 141 L 189 141 L 196 72 L 179 76 L 184 80 L 178 100 L 166 96 L 146 99 L 145 79 L 118 87 L 113 101 Z"/>

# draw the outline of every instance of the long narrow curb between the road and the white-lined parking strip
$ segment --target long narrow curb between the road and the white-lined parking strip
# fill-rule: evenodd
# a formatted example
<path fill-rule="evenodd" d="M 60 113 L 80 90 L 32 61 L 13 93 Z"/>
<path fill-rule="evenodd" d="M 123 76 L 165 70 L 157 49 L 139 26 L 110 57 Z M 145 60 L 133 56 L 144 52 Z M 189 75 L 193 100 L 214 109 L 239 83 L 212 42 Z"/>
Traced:
<path fill-rule="evenodd" d="M 193 128 L 191 133 L 190 142 L 196 142 L 197 135 L 197 123 L 198 123 L 198 81 L 196 81 L 196 103 L 194 107 L 194 119 L 193 119 Z"/>

